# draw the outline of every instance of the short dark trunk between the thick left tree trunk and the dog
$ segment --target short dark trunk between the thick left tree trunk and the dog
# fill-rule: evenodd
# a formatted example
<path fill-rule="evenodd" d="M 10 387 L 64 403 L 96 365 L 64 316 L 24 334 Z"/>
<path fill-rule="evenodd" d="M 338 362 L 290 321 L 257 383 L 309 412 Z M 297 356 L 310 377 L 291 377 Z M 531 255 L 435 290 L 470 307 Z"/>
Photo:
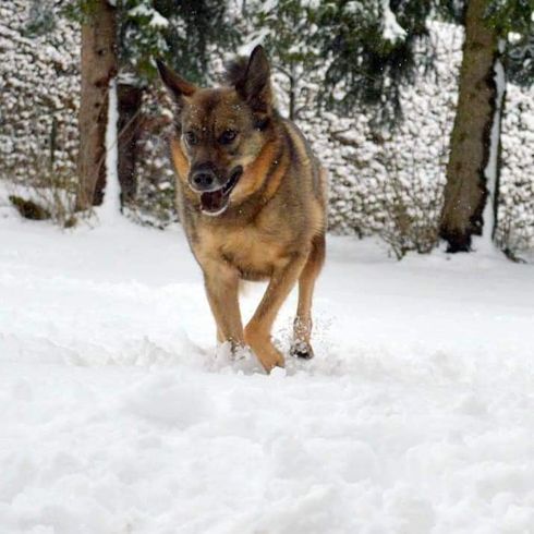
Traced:
<path fill-rule="evenodd" d="M 135 198 L 136 145 L 141 126 L 141 99 L 143 89 L 134 85 L 119 84 L 119 182 L 121 184 L 121 206 Z"/>

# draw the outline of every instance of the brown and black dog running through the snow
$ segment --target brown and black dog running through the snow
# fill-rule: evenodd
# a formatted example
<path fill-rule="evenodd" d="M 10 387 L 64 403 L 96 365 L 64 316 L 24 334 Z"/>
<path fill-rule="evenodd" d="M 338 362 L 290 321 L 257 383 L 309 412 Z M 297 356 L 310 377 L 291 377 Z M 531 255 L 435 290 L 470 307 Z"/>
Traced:
<path fill-rule="evenodd" d="M 178 209 L 204 274 L 217 339 L 247 344 L 267 372 L 283 366 L 270 340 L 299 281 L 292 353 L 312 357 L 312 296 L 325 258 L 326 174 L 298 128 L 274 106 L 262 47 L 235 62 L 228 85 L 198 88 L 158 61 L 175 101 L 171 157 Z M 268 280 L 243 329 L 242 280 Z"/>

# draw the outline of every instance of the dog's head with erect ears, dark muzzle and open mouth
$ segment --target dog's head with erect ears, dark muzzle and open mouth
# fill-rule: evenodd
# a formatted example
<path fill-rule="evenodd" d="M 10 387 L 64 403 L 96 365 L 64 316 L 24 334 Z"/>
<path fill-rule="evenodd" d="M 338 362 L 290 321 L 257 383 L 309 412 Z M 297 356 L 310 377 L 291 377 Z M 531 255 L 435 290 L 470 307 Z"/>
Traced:
<path fill-rule="evenodd" d="M 163 84 L 175 101 L 172 151 L 178 175 L 201 209 L 217 216 L 259 186 L 247 172 L 269 139 L 272 93 L 269 63 L 260 46 L 229 70 L 229 86 L 198 88 L 160 61 Z"/>

